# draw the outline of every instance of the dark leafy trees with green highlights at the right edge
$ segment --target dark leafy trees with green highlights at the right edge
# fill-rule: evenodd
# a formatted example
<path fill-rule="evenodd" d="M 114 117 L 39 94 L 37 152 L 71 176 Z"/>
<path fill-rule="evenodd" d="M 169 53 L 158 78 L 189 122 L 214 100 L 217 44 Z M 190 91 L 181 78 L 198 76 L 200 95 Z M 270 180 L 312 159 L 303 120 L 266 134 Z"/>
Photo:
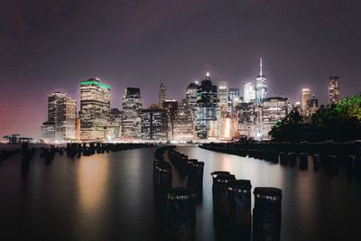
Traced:
<path fill-rule="evenodd" d="M 361 137 L 361 95 L 320 107 L 307 120 L 298 111 L 292 111 L 273 126 L 270 135 L 276 142 L 358 140 Z"/>

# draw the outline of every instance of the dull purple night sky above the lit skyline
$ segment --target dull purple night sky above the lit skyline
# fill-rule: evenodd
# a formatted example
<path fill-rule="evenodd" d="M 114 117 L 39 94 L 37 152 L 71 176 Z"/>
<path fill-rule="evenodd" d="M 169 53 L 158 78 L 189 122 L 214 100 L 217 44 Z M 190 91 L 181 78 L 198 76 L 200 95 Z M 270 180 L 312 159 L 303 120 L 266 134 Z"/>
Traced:
<path fill-rule="evenodd" d="M 79 100 L 98 77 L 120 108 L 125 87 L 143 107 L 185 97 L 208 69 L 241 88 L 264 58 L 269 96 L 301 100 L 309 87 L 327 103 L 329 76 L 342 97 L 361 91 L 361 2 L 356 0 L 1 1 L 0 135 L 39 137 L 54 90 Z"/>

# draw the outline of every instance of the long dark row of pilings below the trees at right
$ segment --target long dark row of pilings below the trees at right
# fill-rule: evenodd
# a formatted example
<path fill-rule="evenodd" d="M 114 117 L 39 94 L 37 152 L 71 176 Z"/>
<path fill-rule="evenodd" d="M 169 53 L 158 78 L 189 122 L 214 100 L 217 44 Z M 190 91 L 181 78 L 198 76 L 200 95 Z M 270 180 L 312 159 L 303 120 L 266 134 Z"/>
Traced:
<path fill-rule="evenodd" d="M 347 168 L 347 174 L 361 177 L 361 148 L 358 142 L 350 144 L 202 144 L 210 151 L 248 156 L 282 166 L 299 166 L 307 170 L 310 163 L 314 171 L 320 169 L 328 174 L 338 174 L 338 165 Z M 293 149 L 292 149 L 293 148 Z M 310 163 L 309 163 L 310 160 Z"/>

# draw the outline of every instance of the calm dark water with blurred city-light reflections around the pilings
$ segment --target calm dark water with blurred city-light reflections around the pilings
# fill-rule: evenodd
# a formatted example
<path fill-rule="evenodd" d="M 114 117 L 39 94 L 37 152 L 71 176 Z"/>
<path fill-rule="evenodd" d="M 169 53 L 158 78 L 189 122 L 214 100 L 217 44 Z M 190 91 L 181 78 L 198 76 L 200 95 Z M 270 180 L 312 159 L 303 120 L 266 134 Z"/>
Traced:
<path fill-rule="evenodd" d="M 361 181 L 340 169 L 299 171 L 279 164 L 180 146 L 205 162 L 197 240 L 216 240 L 211 171 L 231 171 L 253 187 L 282 189 L 282 240 L 356 240 Z M 22 175 L 20 155 L 0 162 L 0 240 L 158 240 L 153 199 L 153 151 L 136 149 L 73 160 L 39 153 Z M 174 175 L 173 185 L 183 182 Z"/>

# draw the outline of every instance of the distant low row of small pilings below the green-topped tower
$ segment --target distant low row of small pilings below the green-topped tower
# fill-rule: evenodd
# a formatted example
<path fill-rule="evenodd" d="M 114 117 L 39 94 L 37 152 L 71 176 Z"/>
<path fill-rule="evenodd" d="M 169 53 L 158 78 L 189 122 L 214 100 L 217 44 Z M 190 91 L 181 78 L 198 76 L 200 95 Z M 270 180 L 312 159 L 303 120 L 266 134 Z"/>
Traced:
<path fill-rule="evenodd" d="M 106 144 L 106 143 L 69 143 L 66 147 L 68 157 L 80 157 L 82 154 L 85 156 L 93 155 L 96 153 L 109 153 L 124 151 L 135 148 L 153 147 L 154 144 Z"/>

